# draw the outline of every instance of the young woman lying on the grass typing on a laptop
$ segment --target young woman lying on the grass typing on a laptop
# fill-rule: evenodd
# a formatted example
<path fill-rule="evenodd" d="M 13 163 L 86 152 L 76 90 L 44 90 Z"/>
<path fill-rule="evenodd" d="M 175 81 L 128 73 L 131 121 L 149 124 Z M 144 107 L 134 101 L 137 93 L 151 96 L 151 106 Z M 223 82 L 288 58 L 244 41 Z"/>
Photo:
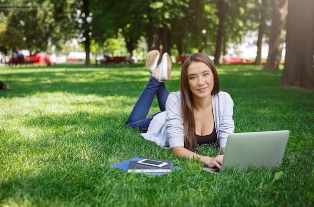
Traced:
<path fill-rule="evenodd" d="M 151 60 L 154 56 L 149 52 L 147 57 Z M 151 62 L 155 61 L 147 61 L 150 64 L 146 63 L 146 67 L 153 65 Z M 169 67 L 167 69 L 171 70 Z M 201 53 L 188 57 L 181 70 L 181 91 L 170 94 L 164 82 L 157 78 L 161 70 L 165 74 L 167 69 L 156 67 L 152 70 L 152 77 L 143 91 L 144 95 L 138 99 L 130 117 L 140 114 L 140 105 L 145 105 L 149 110 L 152 99 L 148 101 L 147 91 L 151 92 L 152 98 L 154 94 L 157 95 L 162 112 L 149 118 L 143 118 L 142 113 L 137 120 L 129 117 L 126 125 L 139 128 L 145 139 L 160 146 L 170 147 L 178 157 L 197 158 L 209 167 L 220 168 L 223 155 L 208 157 L 193 152 L 193 149 L 201 144 L 212 143 L 219 145 L 224 153 L 228 134 L 234 131 L 233 101 L 228 93 L 220 91 L 213 61 Z M 155 87 L 152 87 L 152 83 Z"/>

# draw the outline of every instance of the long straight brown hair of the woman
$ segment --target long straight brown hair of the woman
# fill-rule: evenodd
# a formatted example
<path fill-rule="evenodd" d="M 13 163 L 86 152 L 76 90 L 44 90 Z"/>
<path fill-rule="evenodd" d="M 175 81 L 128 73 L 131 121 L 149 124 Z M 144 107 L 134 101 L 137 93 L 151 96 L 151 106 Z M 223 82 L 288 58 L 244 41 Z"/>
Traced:
<path fill-rule="evenodd" d="M 214 75 L 214 88 L 212 90 L 212 95 L 217 94 L 220 91 L 219 77 L 217 69 L 213 61 L 205 54 L 195 53 L 189 56 L 183 63 L 181 69 L 181 108 L 182 108 L 182 118 L 184 123 L 184 147 L 193 150 L 197 147 L 196 130 L 195 130 L 195 118 L 194 118 L 194 103 L 192 92 L 189 88 L 188 79 L 188 67 L 193 62 L 205 63 Z"/>

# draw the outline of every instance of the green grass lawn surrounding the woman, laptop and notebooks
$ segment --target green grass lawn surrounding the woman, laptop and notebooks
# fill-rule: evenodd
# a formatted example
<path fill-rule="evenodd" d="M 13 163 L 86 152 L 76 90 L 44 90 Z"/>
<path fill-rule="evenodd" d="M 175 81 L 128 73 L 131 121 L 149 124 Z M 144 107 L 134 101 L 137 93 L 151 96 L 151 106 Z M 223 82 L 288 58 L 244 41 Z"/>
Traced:
<path fill-rule="evenodd" d="M 235 132 L 290 130 L 281 167 L 214 175 L 124 126 L 148 81 L 143 64 L 0 67 L 11 89 L 0 91 L 0 205 L 313 206 L 314 93 L 282 87 L 281 70 L 261 69 L 218 66 L 234 100 Z M 169 91 L 179 80 L 174 65 Z M 158 110 L 154 100 L 149 113 Z M 148 176 L 110 166 L 137 156 L 182 169 Z"/>

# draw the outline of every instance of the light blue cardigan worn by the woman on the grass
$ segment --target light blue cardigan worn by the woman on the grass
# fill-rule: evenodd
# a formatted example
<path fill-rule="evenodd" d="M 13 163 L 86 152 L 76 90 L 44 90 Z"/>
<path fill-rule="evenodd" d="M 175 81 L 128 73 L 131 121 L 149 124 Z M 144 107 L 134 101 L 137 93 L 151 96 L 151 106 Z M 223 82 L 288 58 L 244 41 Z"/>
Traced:
<path fill-rule="evenodd" d="M 233 101 L 230 95 L 220 91 L 212 96 L 215 128 L 217 133 L 216 145 L 226 146 L 227 137 L 234 132 Z M 164 148 L 184 146 L 184 125 L 181 113 L 181 92 L 172 92 L 168 96 L 166 111 L 153 117 L 146 133 L 141 136 L 154 141 Z"/>

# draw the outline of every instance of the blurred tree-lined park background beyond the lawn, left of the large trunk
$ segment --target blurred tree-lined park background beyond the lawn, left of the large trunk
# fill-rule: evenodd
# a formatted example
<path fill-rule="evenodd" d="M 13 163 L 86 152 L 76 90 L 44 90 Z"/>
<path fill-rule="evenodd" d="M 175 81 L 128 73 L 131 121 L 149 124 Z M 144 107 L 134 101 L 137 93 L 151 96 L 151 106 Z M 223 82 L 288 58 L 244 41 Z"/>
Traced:
<path fill-rule="evenodd" d="M 101 64 L 111 57 L 134 63 L 156 49 L 179 63 L 202 52 L 215 64 L 260 65 L 275 50 L 277 67 L 284 63 L 287 2 L 2 0 L 1 62 L 20 50 L 26 61 L 44 54 L 53 63 Z"/>

